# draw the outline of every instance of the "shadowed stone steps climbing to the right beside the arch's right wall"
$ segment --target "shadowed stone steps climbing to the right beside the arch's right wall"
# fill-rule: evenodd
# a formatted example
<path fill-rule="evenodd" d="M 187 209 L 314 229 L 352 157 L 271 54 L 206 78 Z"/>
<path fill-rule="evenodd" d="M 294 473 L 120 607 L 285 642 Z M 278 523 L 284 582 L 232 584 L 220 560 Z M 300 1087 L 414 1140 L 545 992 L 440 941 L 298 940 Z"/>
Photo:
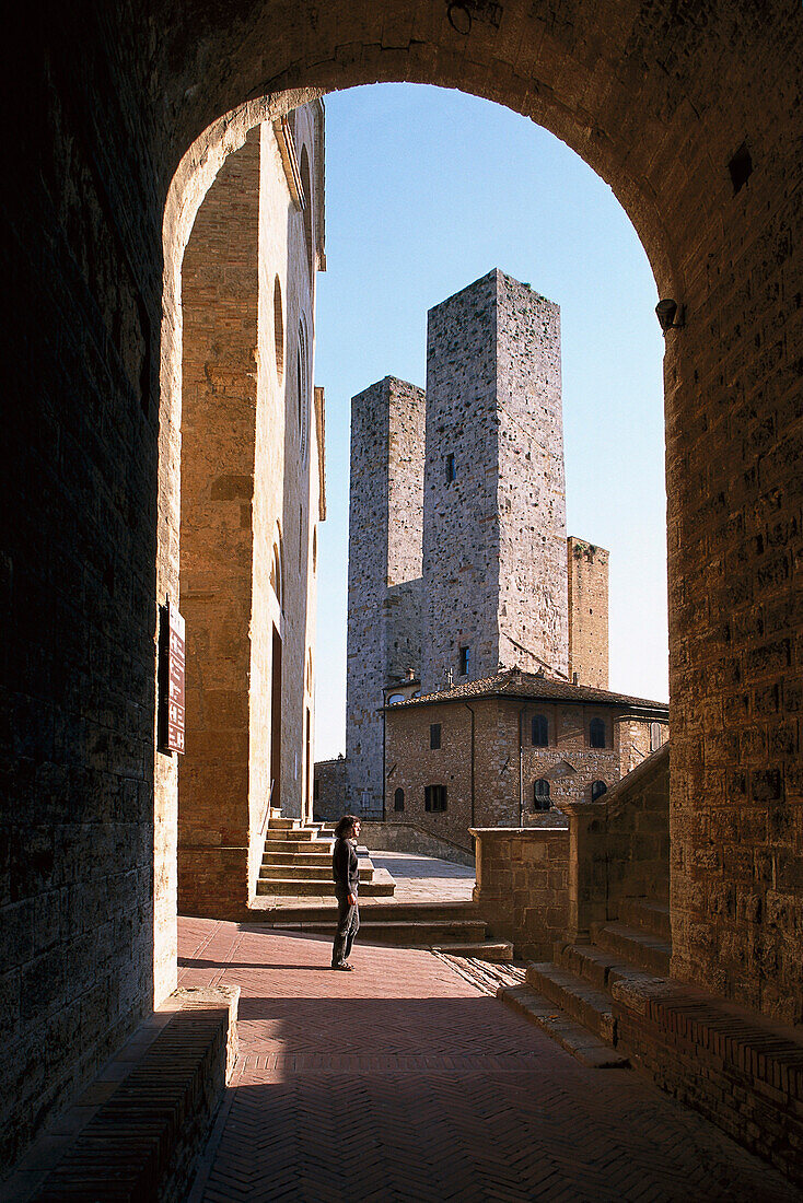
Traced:
<path fill-rule="evenodd" d="M 591 943 L 559 943 L 554 955 L 554 961 L 527 965 L 524 983 L 501 988 L 498 997 L 585 1063 L 630 1065 L 620 1047 L 614 990 L 620 983 L 645 988 L 668 978 L 668 905 L 624 900 L 618 920 L 591 929 Z"/>

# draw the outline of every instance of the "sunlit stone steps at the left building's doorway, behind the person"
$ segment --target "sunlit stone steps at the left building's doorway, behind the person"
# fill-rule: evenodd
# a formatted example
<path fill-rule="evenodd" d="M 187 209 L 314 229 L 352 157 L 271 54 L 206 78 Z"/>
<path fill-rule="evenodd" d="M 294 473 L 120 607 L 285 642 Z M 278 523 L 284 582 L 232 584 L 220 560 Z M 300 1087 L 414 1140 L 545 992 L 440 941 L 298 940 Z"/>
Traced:
<path fill-rule="evenodd" d="M 258 895 L 320 897 L 332 894 L 331 824 L 302 823 L 271 812 L 265 834 Z M 396 883 L 384 869 L 376 869 L 368 849 L 358 846 L 360 897 L 392 897 Z"/>

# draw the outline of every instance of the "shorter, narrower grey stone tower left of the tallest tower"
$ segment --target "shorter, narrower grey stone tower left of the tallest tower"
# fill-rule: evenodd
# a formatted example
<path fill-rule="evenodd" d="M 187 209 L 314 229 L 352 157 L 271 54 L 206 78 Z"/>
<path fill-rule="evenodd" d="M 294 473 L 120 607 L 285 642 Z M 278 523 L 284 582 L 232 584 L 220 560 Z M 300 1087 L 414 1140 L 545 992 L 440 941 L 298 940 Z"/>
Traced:
<path fill-rule="evenodd" d="M 421 662 L 424 390 L 385 377 L 352 398 L 348 805 L 380 810 L 385 687 Z"/>

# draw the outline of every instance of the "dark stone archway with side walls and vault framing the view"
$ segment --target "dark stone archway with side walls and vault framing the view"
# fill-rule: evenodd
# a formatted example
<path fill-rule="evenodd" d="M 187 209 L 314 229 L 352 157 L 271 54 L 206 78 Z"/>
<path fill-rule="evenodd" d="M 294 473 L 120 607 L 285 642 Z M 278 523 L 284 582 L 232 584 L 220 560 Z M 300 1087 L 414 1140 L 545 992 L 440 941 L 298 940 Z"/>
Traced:
<path fill-rule="evenodd" d="M 28 19 L 4 202 L 4 1161 L 175 980 L 154 650 L 178 583 L 176 282 L 199 182 L 260 114 L 358 83 L 461 88 L 557 134 L 684 307 L 665 360 L 673 973 L 803 1019 L 802 61 L 796 0 Z"/>

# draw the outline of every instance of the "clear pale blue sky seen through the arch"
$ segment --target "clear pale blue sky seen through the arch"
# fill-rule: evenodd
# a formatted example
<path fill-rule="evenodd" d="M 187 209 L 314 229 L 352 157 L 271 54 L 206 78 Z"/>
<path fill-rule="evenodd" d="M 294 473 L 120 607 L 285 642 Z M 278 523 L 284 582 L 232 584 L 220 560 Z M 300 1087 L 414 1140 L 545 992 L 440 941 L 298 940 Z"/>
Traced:
<path fill-rule="evenodd" d="M 610 551 L 610 688 L 666 700 L 663 339 L 644 250 L 607 184 L 526 118 L 459 91 L 326 97 L 326 390 L 315 757 L 344 751 L 350 398 L 424 385 L 426 312 L 492 267 L 561 307 L 567 533 Z"/>

